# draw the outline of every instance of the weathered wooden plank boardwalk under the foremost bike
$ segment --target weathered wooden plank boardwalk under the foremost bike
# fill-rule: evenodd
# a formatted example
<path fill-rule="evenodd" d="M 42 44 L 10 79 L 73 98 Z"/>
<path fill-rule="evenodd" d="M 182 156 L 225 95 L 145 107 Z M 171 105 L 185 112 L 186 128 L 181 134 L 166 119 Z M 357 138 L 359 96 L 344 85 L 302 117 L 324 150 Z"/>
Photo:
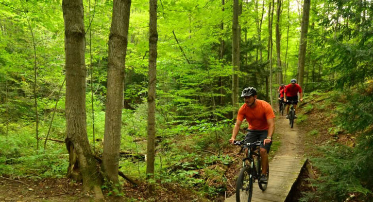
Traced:
<path fill-rule="evenodd" d="M 265 191 L 255 182 L 252 202 L 284 202 L 291 186 L 297 180 L 305 159 L 293 156 L 275 156 L 270 162 L 270 177 Z M 236 202 L 236 194 L 225 202 Z"/>

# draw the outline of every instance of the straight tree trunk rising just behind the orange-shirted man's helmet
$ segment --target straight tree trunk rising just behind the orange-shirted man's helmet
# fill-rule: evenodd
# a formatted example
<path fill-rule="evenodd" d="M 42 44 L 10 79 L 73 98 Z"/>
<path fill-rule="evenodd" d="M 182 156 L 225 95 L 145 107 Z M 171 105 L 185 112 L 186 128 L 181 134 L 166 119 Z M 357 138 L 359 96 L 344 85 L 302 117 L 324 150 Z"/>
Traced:
<path fill-rule="evenodd" d="M 233 1 L 233 24 L 232 24 L 232 106 L 233 118 L 237 116 L 238 110 L 238 74 L 239 71 L 239 39 L 240 29 L 238 25 L 239 5 L 238 0 Z"/>

